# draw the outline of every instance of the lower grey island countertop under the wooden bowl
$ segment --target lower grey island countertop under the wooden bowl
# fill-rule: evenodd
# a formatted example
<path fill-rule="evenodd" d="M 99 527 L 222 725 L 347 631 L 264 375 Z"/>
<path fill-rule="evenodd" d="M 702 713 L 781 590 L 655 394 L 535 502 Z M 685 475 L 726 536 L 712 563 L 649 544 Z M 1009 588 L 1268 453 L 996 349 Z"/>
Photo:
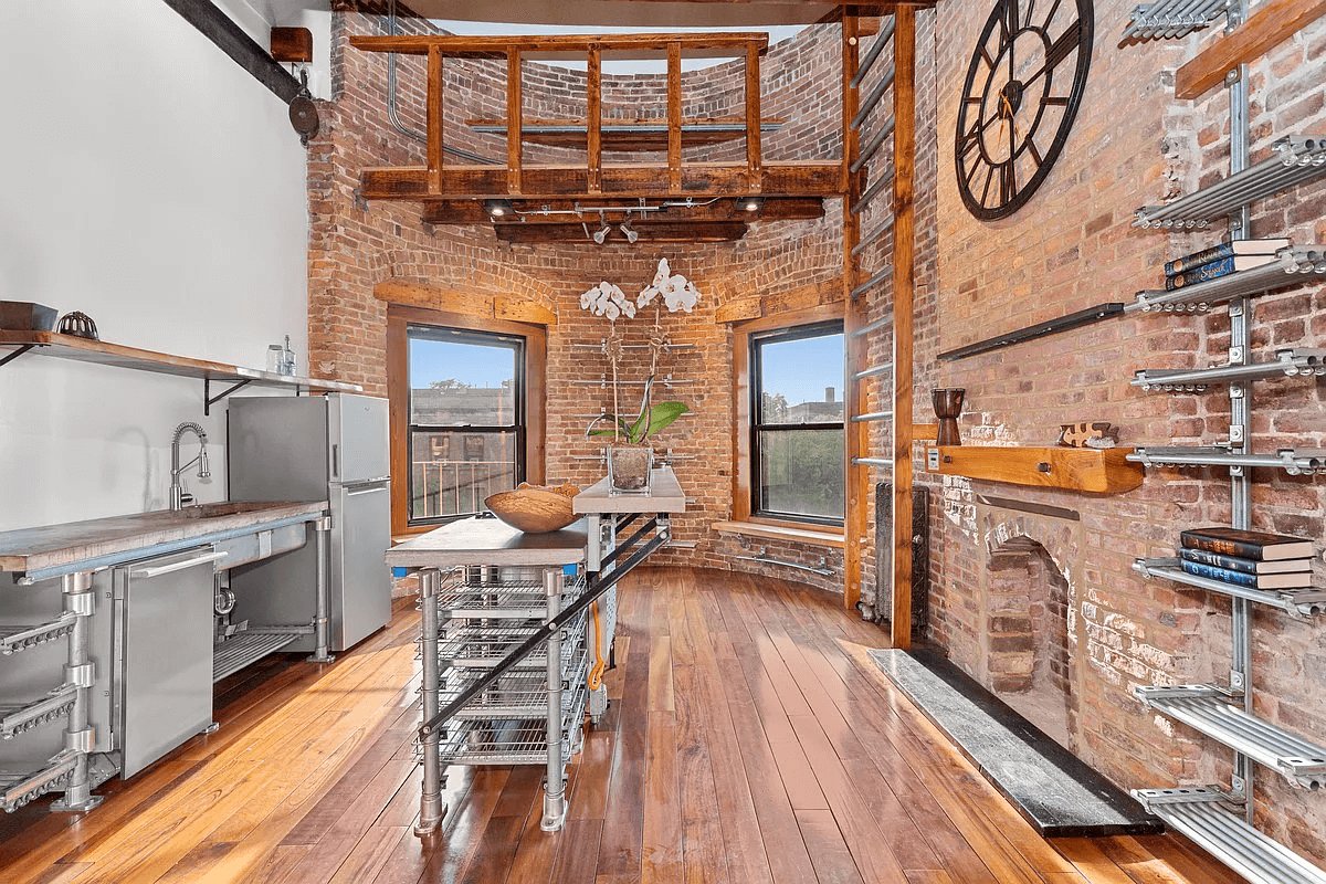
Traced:
<path fill-rule="evenodd" d="M 497 518 L 463 518 L 386 553 L 391 567 L 457 565 L 579 565 L 586 559 L 583 520 L 560 531 L 526 534 Z"/>

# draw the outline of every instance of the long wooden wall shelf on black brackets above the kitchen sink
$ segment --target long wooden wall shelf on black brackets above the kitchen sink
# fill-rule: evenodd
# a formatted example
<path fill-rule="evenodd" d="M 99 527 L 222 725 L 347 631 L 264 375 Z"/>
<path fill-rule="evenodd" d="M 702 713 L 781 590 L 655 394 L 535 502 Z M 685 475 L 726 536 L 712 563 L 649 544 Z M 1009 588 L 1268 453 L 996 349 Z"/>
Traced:
<path fill-rule="evenodd" d="M 117 368 L 137 368 L 139 371 L 152 371 L 180 378 L 202 378 L 204 383 L 203 414 L 208 414 L 211 407 L 220 399 L 251 383 L 269 387 L 304 387 L 308 390 L 333 390 L 339 392 L 363 391 L 363 387 L 358 384 L 342 383 L 339 380 L 278 375 L 272 371 L 245 368 L 223 362 L 190 359 L 188 357 L 175 357 L 154 350 L 139 350 L 118 343 L 106 343 L 105 341 L 89 341 L 72 334 L 0 330 L 0 366 L 29 351 L 45 357 L 73 359 L 74 362 L 93 362 Z M 232 383 L 233 386 L 213 396 L 211 392 L 211 383 L 213 380 Z"/>

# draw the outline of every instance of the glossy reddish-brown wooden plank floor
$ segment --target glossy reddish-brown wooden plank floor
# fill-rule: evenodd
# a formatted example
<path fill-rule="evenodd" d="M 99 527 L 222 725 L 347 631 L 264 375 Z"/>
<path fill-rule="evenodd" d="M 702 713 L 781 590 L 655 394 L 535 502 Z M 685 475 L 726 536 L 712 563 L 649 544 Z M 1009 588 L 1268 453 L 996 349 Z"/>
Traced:
<path fill-rule="evenodd" d="M 613 700 L 542 832 L 534 767 L 452 769 L 416 838 L 418 614 L 329 665 L 217 687 L 198 737 L 88 814 L 0 819 L 0 881 L 1235 884 L 1175 836 L 1036 835 L 869 661 L 841 599 L 646 570 L 621 595 Z"/>

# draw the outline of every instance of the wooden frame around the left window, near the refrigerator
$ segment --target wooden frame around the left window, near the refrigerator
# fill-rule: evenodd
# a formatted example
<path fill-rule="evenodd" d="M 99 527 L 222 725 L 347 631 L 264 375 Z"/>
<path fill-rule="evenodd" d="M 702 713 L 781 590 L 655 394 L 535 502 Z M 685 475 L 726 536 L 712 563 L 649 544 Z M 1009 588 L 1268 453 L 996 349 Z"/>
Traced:
<path fill-rule="evenodd" d="M 545 476 L 548 330 L 526 322 L 469 317 L 446 310 L 387 305 L 387 399 L 391 423 L 391 534 L 423 534 L 436 525 L 410 525 L 410 341 L 407 327 L 430 325 L 489 331 L 525 339 L 525 481 L 542 485 Z"/>

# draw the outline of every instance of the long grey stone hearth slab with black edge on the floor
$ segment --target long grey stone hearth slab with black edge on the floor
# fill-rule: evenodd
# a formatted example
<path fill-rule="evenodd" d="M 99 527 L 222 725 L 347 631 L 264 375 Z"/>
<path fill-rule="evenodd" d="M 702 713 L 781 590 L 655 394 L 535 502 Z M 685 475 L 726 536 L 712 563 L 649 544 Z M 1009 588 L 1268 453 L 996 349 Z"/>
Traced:
<path fill-rule="evenodd" d="M 1042 836 L 1164 830 L 1130 795 L 939 655 L 890 648 L 870 656 Z"/>

